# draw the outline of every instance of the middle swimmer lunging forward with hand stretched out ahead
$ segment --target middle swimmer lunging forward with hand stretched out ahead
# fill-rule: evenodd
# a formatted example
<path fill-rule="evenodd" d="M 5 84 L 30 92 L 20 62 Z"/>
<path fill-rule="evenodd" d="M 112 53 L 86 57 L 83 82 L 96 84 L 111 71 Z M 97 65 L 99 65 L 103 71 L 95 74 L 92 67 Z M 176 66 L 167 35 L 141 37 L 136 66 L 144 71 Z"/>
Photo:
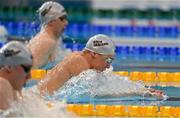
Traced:
<path fill-rule="evenodd" d="M 103 34 L 95 35 L 89 39 L 83 51 L 71 53 L 50 70 L 45 79 L 39 83 L 39 89 L 42 94 L 53 94 L 71 77 L 85 70 L 94 69 L 102 72 L 109 68 L 114 57 L 115 45 L 110 37 Z M 157 94 L 158 97 L 163 95 L 158 90 L 148 91 L 155 96 Z"/>

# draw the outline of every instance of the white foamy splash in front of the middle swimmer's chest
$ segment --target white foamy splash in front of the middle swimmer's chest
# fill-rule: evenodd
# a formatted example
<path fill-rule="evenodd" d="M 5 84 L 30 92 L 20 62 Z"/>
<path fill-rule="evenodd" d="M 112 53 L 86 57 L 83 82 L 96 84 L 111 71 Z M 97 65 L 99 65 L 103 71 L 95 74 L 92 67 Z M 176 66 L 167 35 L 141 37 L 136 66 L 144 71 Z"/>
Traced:
<path fill-rule="evenodd" d="M 72 77 L 59 89 L 53 98 L 90 97 L 122 97 L 147 93 L 142 82 L 133 82 L 128 77 L 121 77 L 112 73 L 112 67 L 104 72 L 87 70 L 76 77 Z"/>

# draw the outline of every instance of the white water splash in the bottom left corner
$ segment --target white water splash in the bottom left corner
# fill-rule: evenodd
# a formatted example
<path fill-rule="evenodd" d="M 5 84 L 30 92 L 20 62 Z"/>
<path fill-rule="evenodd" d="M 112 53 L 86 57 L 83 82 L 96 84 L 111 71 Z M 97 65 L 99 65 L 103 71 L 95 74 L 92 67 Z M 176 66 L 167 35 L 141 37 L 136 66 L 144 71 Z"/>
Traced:
<path fill-rule="evenodd" d="M 66 111 L 66 104 L 60 101 L 45 101 L 37 92 L 36 87 L 23 90 L 23 97 L 13 102 L 11 108 L 4 111 L 0 117 L 59 117 L 71 118 L 75 115 Z"/>

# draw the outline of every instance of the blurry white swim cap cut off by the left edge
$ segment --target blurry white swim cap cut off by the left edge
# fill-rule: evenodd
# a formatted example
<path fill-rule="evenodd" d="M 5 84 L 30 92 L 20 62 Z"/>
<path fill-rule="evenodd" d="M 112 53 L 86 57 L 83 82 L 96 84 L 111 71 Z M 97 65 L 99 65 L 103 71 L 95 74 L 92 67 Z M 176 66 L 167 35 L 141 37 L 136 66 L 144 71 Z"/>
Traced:
<path fill-rule="evenodd" d="M 7 36 L 8 36 L 8 31 L 7 29 L 3 26 L 0 25 L 0 42 L 7 42 Z"/>

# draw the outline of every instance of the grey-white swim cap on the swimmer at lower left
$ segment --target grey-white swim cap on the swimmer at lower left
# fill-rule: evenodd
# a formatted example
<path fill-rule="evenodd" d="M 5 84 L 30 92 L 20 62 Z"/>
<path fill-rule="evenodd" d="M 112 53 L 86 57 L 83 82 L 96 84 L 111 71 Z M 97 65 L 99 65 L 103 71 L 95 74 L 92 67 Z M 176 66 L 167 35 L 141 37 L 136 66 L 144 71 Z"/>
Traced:
<path fill-rule="evenodd" d="M 0 66 L 32 65 L 32 55 L 24 43 L 8 42 L 0 49 Z"/>

